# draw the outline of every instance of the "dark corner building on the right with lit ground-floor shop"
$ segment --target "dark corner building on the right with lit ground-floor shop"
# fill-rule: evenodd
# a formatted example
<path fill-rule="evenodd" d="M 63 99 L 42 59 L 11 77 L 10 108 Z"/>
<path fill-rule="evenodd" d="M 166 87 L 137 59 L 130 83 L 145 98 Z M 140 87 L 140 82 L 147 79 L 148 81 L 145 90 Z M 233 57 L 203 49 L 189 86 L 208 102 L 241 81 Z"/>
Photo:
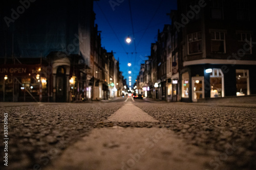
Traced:
<path fill-rule="evenodd" d="M 255 26 L 251 25 L 255 12 L 251 3 L 178 1 L 180 23 L 187 18 L 180 28 L 181 101 L 256 94 Z M 180 27 L 178 22 L 173 24 Z"/>

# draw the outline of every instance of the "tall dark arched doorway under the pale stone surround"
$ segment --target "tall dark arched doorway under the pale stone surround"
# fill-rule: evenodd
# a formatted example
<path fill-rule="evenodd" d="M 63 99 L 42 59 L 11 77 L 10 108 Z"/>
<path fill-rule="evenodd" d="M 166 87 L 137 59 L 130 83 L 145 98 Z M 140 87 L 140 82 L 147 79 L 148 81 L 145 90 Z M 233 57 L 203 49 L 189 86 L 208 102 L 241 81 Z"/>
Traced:
<path fill-rule="evenodd" d="M 59 66 L 56 74 L 56 102 L 66 102 L 66 69 Z"/>

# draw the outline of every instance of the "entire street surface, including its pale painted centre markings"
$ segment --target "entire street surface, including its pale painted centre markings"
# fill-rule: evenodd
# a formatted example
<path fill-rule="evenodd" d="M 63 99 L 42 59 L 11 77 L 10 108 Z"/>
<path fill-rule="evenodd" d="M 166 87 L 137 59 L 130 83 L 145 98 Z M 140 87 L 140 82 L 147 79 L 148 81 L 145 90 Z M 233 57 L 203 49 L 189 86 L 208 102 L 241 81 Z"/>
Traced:
<path fill-rule="evenodd" d="M 256 169 L 255 108 L 126 98 L 19 105 L 0 107 L 0 126 L 4 113 L 9 125 L 0 169 Z"/>

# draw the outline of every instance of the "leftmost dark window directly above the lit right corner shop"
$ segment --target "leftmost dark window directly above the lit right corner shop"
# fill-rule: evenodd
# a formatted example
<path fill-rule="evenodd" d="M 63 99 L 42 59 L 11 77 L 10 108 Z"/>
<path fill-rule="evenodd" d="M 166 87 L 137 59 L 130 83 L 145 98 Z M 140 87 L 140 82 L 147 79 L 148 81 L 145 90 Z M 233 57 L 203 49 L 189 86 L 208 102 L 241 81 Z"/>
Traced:
<path fill-rule="evenodd" d="M 189 54 L 202 52 L 201 32 L 188 34 L 187 40 L 188 40 L 188 53 Z"/>

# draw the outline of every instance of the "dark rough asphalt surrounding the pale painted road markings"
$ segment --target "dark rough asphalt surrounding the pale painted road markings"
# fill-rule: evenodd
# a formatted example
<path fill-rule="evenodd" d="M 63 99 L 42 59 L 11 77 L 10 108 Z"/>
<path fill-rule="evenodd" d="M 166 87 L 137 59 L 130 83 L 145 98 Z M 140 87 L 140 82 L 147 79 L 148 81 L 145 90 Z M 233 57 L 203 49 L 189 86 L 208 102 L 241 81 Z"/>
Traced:
<path fill-rule="evenodd" d="M 2 136 L 4 113 L 8 113 L 9 125 L 8 167 L 1 161 L 0 169 L 44 169 L 93 129 L 113 126 L 170 129 L 188 144 L 219 152 L 208 169 L 220 169 L 221 165 L 256 169 L 256 108 L 135 100 L 134 105 L 159 122 L 104 122 L 125 104 L 124 100 L 6 107 L 0 104 Z"/>

